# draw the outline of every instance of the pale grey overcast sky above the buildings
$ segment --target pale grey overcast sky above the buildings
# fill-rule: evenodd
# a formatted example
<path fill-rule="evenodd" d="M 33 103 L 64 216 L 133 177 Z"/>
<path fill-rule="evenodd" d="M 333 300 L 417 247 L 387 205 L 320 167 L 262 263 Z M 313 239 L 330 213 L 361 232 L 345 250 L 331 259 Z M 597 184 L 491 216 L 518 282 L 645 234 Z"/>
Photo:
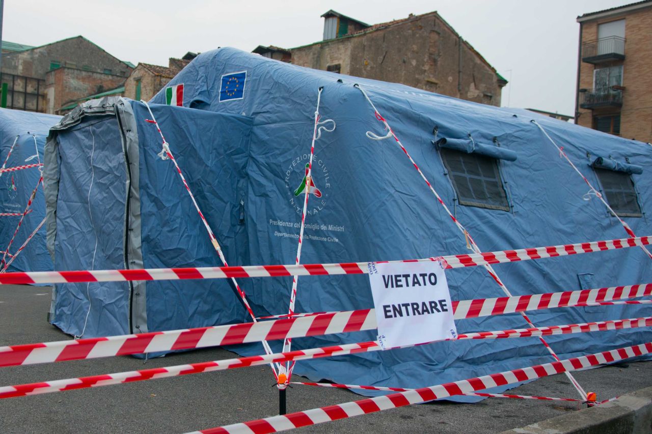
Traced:
<path fill-rule="evenodd" d="M 578 15 L 634 0 L 6 0 L 3 40 L 38 46 L 83 35 L 115 57 L 168 65 L 187 51 L 321 40 L 329 9 L 368 24 L 437 10 L 510 81 L 503 106 L 572 115 Z"/>

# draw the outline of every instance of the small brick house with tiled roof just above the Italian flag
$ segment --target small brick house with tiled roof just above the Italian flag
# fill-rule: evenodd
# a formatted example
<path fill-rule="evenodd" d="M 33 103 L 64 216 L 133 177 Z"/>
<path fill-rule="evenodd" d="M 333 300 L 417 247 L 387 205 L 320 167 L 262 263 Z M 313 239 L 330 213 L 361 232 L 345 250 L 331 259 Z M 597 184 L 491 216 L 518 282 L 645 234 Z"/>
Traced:
<path fill-rule="evenodd" d="M 139 63 L 125 81 L 125 96 L 149 101 L 196 56 L 196 53 L 188 52 L 181 59 L 170 57 L 168 66 Z"/>

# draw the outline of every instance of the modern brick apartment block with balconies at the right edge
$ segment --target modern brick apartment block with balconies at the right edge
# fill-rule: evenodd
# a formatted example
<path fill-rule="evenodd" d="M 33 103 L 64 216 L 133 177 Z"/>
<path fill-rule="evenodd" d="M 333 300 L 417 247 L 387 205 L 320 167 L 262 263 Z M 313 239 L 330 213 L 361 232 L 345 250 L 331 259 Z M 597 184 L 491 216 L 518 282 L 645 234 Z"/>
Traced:
<path fill-rule="evenodd" d="M 652 142 L 652 1 L 577 18 L 575 123 Z"/>

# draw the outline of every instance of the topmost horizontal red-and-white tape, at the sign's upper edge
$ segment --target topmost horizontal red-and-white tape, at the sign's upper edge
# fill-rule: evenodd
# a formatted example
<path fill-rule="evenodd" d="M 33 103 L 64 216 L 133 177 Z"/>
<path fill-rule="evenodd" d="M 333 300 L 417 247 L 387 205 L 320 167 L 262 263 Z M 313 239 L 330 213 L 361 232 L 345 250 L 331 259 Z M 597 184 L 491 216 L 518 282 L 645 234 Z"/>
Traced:
<path fill-rule="evenodd" d="M 476 267 L 484 264 L 509 263 L 577 255 L 630 248 L 650 244 L 652 237 L 625 238 L 606 241 L 581 242 L 549 247 L 535 247 L 499 252 L 448 255 L 427 259 L 408 259 L 415 262 L 443 260 L 445 268 Z M 367 274 L 366 262 L 299 265 L 248 265 L 244 267 L 189 267 L 189 268 L 145 268 L 130 270 L 80 270 L 80 271 L 34 271 L 5 273 L 0 276 L 0 285 L 25 283 L 78 283 L 78 282 L 123 282 L 129 280 L 179 280 L 179 279 L 225 279 L 279 276 L 321 276 L 325 274 Z"/>

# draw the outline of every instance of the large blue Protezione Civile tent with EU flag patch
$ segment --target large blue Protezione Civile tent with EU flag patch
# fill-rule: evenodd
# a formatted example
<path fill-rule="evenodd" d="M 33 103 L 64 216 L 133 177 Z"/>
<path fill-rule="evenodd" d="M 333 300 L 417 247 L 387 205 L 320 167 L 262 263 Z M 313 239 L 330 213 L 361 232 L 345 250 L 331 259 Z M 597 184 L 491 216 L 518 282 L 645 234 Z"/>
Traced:
<path fill-rule="evenodd" d="M 652 234 L 652 147 L 527 111 L 288 65 L 231 48 L 202 53 L 151 109 L 230 265 L 293 263 L 301 182 L 316 141 L 302 263 L 466 253 L 465 237 L 355 84 L 368 93 L 481 250 L 627 237 L 544 136 L 599 186 L 638 235 Z M 183 104 L 183 107 L 166 103 Z M 84 104 L 46 146 L 48 243 L 55 269 L 220 265 L 144 104 Z M 324 124 L 329 129 L 332 123 Z M 93 143 L 93 145 L 91 145 Z M 95 171 L 95 175 L 93 172 Z M 98 175 L 101 173 L 101 175 Z M 93 188 L 90 188 L 93 181 Z M 81 186 L 72 188 L 73 185 Z M 651 282 L 639 248 L 496 265 L 514 295 Z M 500 297 L 481 267 L 447 272 L 454 300 Z M 286 313 L 291 278 L 241 279 L 256 315 Z M 370 308 L 367 276 L 299 279 L 297 311 Z M 104 336 L 247 321 L 225 280 L 56 285 L 53 324 Z M 637 306 L 537 311 L 537 325 L 645 316 Z M 458 321 L 458 332 L 526 326 L 520 315 Z M 293 348 L 373 340 L 372 332 L 295 340 Z M 560 357 L 650 340 L 638 328 L 554 336 Z M 274 343 L 273 343 L 274 344 Z M 279 349 L 280 345 L 273 345 Z M 238 347 L 261 354 L 260 345 Z M 442 342 L 299 362 L 295 373 L 337 383 L 417 387 L 550 361 L 537 338 Z M 366 393 L 366 392 L 365 392 Z"/>

